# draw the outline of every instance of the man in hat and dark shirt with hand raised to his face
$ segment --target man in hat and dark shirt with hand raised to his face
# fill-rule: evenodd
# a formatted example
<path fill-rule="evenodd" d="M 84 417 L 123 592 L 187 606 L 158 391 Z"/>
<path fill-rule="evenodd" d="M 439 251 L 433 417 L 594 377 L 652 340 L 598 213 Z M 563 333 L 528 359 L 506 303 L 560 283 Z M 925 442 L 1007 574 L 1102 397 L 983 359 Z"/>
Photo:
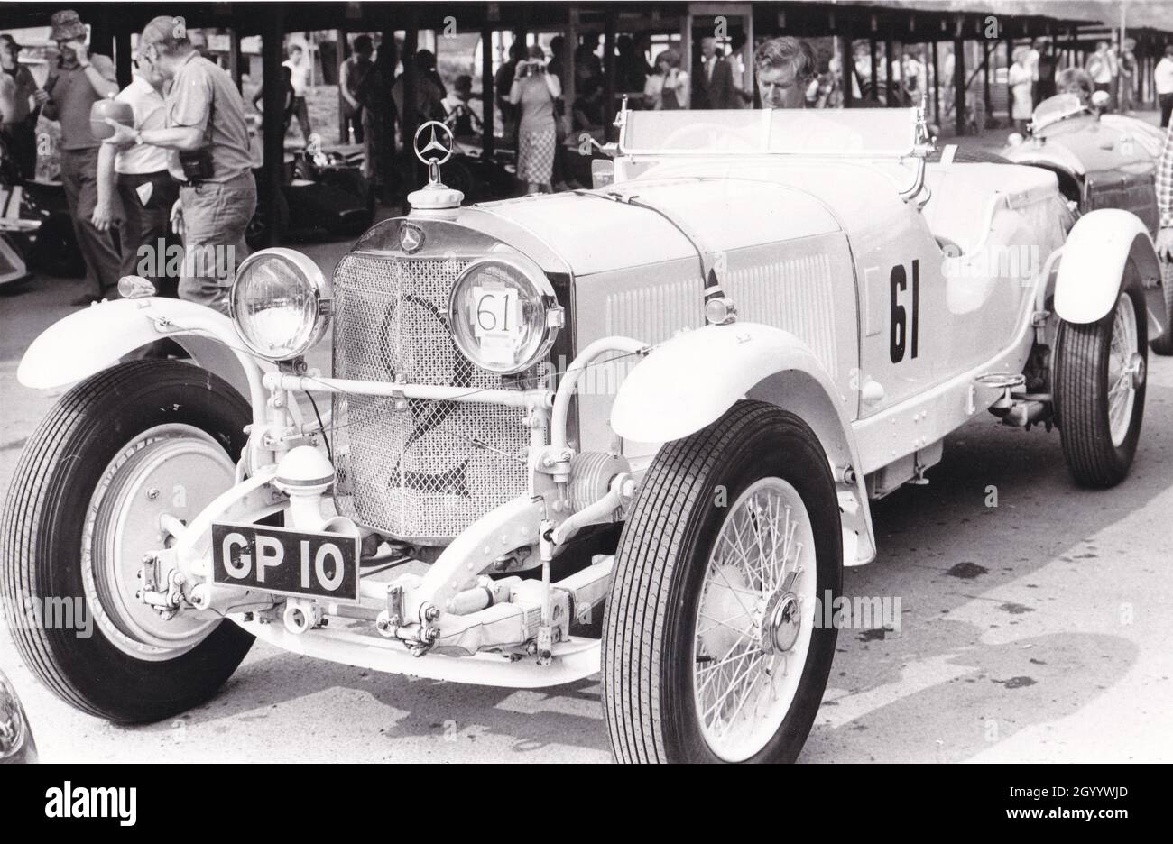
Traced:
<path fill-rule="evenodd" d="M 114 62 L 86 49 L 86 25 L 76 12 L 55 12 L 49 22 L 57 43 L 57 63 L 49 72 L 45 116 L 61 123 L 61 183 L 73 217 L 77 246 L 86 259 L 87 292 L 70 305 L 88 305 L 116 295 L 121 258 L 109 232 L 91 222 L 97 204 L 97 154 L 102 143 L 89 128 L 90 107 L 118 93 Z"/>

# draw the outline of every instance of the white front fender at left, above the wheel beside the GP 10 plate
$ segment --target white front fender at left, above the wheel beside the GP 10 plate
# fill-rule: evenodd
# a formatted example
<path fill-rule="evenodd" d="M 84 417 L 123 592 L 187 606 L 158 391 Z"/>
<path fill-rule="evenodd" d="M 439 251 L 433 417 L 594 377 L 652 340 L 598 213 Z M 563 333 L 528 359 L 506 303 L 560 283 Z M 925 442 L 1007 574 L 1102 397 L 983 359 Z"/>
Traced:
<path fill-rule="evenodd" d="M 72 313 L 33 340 L 16 379 L 34 389 L 74 383 L 163 338 L 174 339 L 196 363 L 249 397 L 255 413 L 264 407 L 262 366 L 242 348 L 232 321 L 182 299 L 116 299 Z"/>

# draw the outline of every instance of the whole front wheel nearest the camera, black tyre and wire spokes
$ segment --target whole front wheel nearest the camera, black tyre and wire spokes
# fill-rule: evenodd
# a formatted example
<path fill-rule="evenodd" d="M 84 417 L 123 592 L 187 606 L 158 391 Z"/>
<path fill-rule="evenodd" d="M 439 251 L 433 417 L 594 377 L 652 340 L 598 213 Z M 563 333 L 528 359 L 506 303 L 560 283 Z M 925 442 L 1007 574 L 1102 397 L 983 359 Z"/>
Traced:
<path fill-rule="evenodd" d="M 835 484 L 793 414 L 738 402 L 664 445 L 616 552 L 603 700 L 622 762 L 791 762 L 814 721 L 842 583 Z"/>

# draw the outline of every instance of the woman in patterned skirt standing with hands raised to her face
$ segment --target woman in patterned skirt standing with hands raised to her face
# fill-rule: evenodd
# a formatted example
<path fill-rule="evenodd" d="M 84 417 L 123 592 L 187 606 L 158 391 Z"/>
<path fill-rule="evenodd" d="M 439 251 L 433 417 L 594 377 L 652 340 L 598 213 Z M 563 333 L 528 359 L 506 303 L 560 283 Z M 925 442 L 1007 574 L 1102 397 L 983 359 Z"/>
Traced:
<path fill-rule="evenodd" d="M 517 178 L 527 193 L 550 190 L 556 127 L 554 103 L 562 96 L 558 77 L 545 72 L 545 50 L 529 48 L 529 60 L 517 62 L 509 102 L 518 107 Z"/>

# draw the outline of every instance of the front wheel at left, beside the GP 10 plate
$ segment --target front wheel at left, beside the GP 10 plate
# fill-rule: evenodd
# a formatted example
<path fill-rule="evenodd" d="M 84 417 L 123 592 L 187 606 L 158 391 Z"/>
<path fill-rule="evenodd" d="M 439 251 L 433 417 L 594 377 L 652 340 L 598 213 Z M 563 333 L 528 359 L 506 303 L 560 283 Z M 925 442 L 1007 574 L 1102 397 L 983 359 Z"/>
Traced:
<path fill-rule="evenodd" d="M 190 522 L 231 486 L 251 418 L 204 369 L 134 361 L 70 388 L 29 438 L 0 516 L 0 603 L 59 697 L 157 721 L 215 694 L 244 659 L 253 639 L 232 621 L 165 619 L 135 593 L 143 556 L 165 544 L 161 517 Z"/>

